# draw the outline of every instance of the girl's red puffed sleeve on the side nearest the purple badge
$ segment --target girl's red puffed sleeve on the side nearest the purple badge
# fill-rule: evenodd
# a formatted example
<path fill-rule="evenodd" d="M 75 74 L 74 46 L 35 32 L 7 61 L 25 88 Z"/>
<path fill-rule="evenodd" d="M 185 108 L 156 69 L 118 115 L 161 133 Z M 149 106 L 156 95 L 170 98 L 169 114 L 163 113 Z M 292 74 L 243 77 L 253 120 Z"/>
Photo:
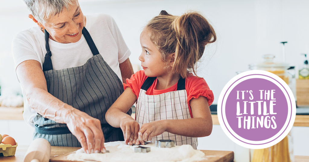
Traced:
<path fill-rule="evenodd" d="M 189 106 L 190 106 L 190 100 L 192 98 L 197 99 L 200 96 L 204 96 L 207 98 L 209 106 L 214 102 L 214 94 L 212 90 L 209 89 L 209 86 L 207 85 L 204 78 L 199 78 L 196 76 L 187 77 L 185 88 L 188 93 L 187 102 Z"/>

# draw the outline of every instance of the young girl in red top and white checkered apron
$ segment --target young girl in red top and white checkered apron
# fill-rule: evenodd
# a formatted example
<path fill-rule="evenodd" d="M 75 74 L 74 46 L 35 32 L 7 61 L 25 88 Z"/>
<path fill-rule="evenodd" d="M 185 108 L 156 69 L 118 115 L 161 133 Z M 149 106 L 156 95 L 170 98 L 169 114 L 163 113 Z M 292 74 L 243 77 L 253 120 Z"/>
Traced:
<path fill-rule="evenodd" d="M 106 120 L 120 127 L 125 143 L 144 144 L 171 139 L 197 148 L 197 137 L 210 135 L 209 105 L 214 95 L 195 72 L 205 45 L 216 41 L 208 21 L 197 12 L 154 17 L 140 36 L 144 70 L 127 79 L 125 91 L 106 112 Z M 126 114 L 137 101 L 135 120 Z"/>

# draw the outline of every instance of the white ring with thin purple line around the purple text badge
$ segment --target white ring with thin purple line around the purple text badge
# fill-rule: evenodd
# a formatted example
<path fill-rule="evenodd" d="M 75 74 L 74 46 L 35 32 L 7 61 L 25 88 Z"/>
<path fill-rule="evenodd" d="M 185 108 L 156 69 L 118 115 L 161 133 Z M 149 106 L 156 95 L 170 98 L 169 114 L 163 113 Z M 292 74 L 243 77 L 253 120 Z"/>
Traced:
<path fill-rule="evenodd" d="M 250 77 L 251 76 L 251 77 Z M 261 77 L 263 76 L 263 77 Z M 266 79 L 273 82 L 276 84 L 283 92 L 283 94 L 286 97 L 287 103 L 288 103 L 288 117 L 281 128 L 281 130 L 274 135 L 273 137 L 263 140 L 263 141 L 250 141 L 244 138 L 241 138 L 239 135 L 237 135 L 231 127 L 227 124 L 226 116 L 225 116 L 225 103 L 226 99 L 228 96 L 228 91 L 231 92 L 231 90 L 241 83 L 242 81 L 245 81 L 247 79 L 251 78 L 262 78 Z M 225 97 L 226 96 L 226 97 Z M 223 111 L 222 111 L 222 107 Z M 295 99 L 293 96 L 292 91 L 290 90 L 290 87 L 286 84 L 285 81 L 283 81 L 280 77 L 277 75 L 263 71 L 263 70 L 250 70 L 246 72 L 242 72 L 235 77 L 233 77 L 222 89 L 219 99 L 218 99 L 218 108 L 217 108 L 217 114 L 218 114 L 218 120 L 221 125 L 221 128 L 223 132 L 236 144 L 246 147 L 246 148 L 251 148 L 251 149 L 263 149 L 267 147 L 271 147 L 278 142 L 280 142 L 286 135 L 290 132 L 294 121 L 295 121 L 295 116 L 296 116 L 296 104 L 295 104 Z M 223 116 L 223 117 L 222 117 Z M 245 142 L 243 142 L 243 141 Z"/>

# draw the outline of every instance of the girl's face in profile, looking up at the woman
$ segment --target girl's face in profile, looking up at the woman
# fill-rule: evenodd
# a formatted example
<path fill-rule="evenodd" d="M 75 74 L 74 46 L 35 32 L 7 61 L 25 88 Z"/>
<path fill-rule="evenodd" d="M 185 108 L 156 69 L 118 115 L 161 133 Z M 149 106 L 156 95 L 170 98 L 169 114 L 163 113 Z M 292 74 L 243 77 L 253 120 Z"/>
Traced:
<path fill-rule="evenodd" d="M 142 54 L 138 57 L 142 61 L 142 67 L 146 76 L 159 77 L 167 74 L 166 63 L 163 62 L 161 52 L 151 42 L 148 36 L 147 27 L 141 33 L 140 42 L 142 46 Z"/>

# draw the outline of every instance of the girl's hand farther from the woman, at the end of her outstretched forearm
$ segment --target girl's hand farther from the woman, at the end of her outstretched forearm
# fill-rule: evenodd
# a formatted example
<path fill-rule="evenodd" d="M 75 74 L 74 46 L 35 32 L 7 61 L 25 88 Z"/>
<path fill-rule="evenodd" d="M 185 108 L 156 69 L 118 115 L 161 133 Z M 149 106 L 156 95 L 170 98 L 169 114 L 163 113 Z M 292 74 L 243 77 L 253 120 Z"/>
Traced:
<path fill-rule="evenodd" d="M 164 120 L 145 123 L 142 125 L 141 130 L 138 132 L 138 140 L 141 144 L 145 141 L 150 141 L 152 137 L 163 134 L 167 129 L 167 124 Z"/>

